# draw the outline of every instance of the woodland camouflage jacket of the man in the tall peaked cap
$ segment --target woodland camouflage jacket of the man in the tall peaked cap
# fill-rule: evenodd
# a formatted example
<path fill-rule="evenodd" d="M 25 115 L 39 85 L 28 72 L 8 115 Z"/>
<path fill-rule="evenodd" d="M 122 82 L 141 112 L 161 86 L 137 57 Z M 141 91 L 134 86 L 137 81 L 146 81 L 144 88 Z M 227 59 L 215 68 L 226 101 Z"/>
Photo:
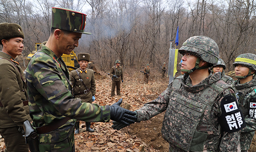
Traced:
<path fill-rule="evenodd" d="M 69 72 L 62 58 L 42 45 L 30 60 L 26 72 L 29 95 L 29 112 L 34 127 L 49 125 L 65 117 L 85 122 L 107 122 L 110 120 L 109 106 L 82 103 L 73 98 L 70 90 Z M 68 120 L 58 129 L 40 134 L 42 143 L 58 142 L 69 136 L 67 132 L 74 126 Z"/>

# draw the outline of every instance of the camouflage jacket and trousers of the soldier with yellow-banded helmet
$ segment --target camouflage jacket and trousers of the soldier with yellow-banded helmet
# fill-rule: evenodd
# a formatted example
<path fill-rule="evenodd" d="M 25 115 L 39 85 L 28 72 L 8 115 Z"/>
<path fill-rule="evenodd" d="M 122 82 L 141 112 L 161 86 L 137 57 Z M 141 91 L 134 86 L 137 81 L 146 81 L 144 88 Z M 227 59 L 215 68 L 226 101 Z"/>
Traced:
<path fill-rule="evenodd" d="M 240 84 L 240 80 L 232 85 L 236 91 L 238 104 L 245 117 L 246 127 L 241 130 L 241 150 L 249 150 L 254 132 L 256 131 L 256 119 L 249 117 L 250 100 L 256 98 L 256 78 L 247 83 Z"/>

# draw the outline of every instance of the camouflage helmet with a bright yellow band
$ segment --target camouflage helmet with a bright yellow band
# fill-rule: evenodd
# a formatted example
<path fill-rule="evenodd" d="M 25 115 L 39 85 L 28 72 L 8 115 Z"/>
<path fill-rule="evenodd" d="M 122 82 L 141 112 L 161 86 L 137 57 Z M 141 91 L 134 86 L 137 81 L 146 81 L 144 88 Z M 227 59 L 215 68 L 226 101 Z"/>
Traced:
<path fill-rule="evenodd" d="M 256 55 L 252 53 L 238 55 L 233 65 L 235 66 L 237 64 L 245 65 L 249 69 L 256 71 Z"/>

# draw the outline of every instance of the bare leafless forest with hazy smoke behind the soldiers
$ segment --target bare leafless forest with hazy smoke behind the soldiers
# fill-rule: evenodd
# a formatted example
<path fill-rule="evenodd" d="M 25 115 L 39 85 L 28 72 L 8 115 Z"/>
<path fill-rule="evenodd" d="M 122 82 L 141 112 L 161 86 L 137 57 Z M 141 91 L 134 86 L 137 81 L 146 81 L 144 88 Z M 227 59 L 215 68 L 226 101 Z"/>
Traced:
<path fill-rule="evenodd" d="M 85 31 L 92 34 L 83 34 L 74 51 L 90 53 L 100 71 L 108 71 L 116 59 L 132 69 L 168 65 L 169 40 L 175 41 L 178 26 L 176 48 L 191 36 L 211 37 L 226 71 L 233 70 L 238 55 L 256 50 L 254 0 L 0 0 L 0 23 L 17 23 L 25 34 L 18 61 L 35 50 L 36 42 L 47 41 L 51 7 L 87 14 Z"/>

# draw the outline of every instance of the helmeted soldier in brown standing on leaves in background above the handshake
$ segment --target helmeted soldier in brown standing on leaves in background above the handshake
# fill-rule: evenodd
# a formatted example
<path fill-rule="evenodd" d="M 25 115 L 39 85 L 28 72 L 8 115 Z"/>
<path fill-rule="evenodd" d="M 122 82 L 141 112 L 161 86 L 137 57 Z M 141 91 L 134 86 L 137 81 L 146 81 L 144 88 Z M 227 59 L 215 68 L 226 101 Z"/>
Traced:
<path fill-rule="evenodd" d="M 116 89 L 116 94 L 121 95 L 120 85 L 121 81 L 123 82 L 123 68 L 120 66 L 120 60 L 116 60 L 115 66 L 110 69 L 110 76 L 112 77 L 112 88 L 111 88 L 111 97 L 114 97 L 114 90 Z"/>

